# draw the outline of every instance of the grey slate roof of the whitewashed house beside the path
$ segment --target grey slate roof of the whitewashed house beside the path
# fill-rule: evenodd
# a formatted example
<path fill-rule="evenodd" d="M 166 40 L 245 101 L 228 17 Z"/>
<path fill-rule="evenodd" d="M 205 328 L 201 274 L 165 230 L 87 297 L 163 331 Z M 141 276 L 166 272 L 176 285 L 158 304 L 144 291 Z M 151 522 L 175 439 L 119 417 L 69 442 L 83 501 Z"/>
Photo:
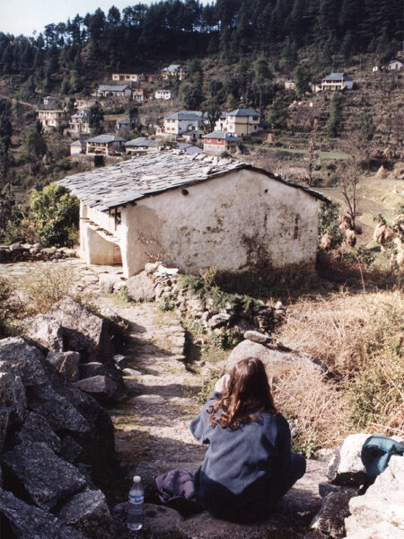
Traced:
<path fill-rule="evenodd" d="M 199 183 L 243 169 L 260 172 L 295 189 L 304 190 L 316 199 L 327 201 L 316 191 L 284 181 L 279 176 L 247 163 L 221 159 L 216 164 L 211 164 L 169 152 L 155 152 L 90 172 L 80 172 L 66 176 L 57 183 L 70 190 L 85 206 L 106 211 L 137 199 L 145 199 L 183 185 Z"/>

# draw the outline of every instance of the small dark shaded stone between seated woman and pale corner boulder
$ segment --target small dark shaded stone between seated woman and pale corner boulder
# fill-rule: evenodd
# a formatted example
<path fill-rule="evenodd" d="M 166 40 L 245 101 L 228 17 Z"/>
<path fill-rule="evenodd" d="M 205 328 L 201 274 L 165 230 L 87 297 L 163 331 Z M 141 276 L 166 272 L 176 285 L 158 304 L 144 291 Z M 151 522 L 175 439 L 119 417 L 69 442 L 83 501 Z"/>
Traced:
<path fill-rule="evenodd" d="M 352 492 L 347 490 L 329 492 L 322 500 L 320 511 L 312 519 L 312 529 L 335 539 L 344 537 L 344 518 L 349 515 L 348 503 L 351 498 Z"/>

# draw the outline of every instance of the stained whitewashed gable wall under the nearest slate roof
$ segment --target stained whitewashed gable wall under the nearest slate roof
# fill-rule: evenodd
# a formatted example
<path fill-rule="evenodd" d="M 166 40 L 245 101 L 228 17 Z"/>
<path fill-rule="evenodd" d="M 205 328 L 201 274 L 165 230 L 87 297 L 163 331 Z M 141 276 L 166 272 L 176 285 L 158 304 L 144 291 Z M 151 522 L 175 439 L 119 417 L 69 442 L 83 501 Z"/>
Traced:
<path fill-rule="evenodd" d="M 303 190 L 251 171 L 167 191 L 122 209 L 121 252 L 127 276 L 150 258 L 181 271 L 281 269 L 313 264 L 317 203 Z"/>

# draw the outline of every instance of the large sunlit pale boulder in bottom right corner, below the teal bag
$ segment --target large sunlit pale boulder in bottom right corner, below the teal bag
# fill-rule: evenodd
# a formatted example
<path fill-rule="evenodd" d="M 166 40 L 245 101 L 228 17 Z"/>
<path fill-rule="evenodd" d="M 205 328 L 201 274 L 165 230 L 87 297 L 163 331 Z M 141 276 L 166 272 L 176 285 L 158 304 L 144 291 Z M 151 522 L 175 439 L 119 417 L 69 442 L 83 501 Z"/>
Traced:
<path fill-rule="evenodd" d="M 349 502 L 351 517 L 345 521 L 347 535 L 387 522 L 404 536 L 404 457 L 391 456 L 388 467 L 376 477 L 363 496 Z"/>

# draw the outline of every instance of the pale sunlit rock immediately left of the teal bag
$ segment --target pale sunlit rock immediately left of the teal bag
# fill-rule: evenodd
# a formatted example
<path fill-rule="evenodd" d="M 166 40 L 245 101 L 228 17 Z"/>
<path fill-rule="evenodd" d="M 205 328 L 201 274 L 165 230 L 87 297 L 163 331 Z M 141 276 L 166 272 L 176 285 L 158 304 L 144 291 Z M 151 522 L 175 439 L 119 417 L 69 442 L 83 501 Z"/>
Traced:
<path fill-rule="evenodd" d="M 329 462 L 327 476 L 330 482 L 339 485 L 360 485 L 367 482 L 361 459 L 362 446 L 368 434 L 350 434 L 338 446 Z"/>

